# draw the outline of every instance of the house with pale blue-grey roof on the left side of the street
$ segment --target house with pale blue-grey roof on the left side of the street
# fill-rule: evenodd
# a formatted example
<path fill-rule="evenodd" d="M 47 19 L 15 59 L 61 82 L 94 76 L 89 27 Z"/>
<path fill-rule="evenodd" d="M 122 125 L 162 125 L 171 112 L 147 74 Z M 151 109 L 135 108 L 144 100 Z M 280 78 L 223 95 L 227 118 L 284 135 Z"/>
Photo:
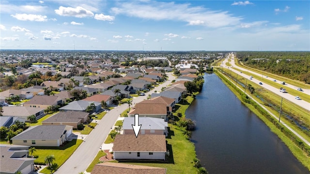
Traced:
<path fill-rule="evenodd" d="M 68 105 L 65 105 L 61 108 L 59 108 L 60 111 L 85 111 L 88 106 L 90 106 L 92 103 L 95 105 L 95 112 L 98 112 L 101 109 L 101 102 L 91 102 L 91 101 L 73 101 L 69 102 Z"/>

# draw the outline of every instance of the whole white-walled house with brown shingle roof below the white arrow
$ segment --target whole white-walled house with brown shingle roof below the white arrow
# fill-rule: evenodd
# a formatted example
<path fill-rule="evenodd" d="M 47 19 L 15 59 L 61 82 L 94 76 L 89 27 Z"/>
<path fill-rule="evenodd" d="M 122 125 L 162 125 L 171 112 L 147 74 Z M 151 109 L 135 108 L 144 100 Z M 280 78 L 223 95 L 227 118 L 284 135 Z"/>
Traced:
<path fill-rule="evenodd" d="M 117 134 L 113 144 L 115 160 L 166 160 L 165 135 Z"/>

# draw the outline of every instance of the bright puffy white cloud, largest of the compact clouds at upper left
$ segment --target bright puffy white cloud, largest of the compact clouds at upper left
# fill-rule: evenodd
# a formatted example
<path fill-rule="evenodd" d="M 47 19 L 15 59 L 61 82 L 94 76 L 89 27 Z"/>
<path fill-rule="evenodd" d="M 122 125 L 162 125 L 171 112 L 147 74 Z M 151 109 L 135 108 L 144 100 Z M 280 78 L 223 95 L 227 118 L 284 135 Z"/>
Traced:
<path fill-rule="evenodd" d="M 83 7 L 62 7 L 60 6 L 58 10 L 55 10 L 55 13 L 62 16 L 74 16 L 74 17 L 92 17 L 93 12 L 84 9 Z"/>

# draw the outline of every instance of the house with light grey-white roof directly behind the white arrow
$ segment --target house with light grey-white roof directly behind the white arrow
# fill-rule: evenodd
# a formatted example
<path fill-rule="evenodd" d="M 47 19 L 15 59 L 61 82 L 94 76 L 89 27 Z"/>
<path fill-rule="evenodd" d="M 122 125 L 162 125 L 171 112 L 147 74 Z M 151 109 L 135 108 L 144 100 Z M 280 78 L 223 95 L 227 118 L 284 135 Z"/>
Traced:
<path fill-rule="evenodd" d="M 135 125 L 135 117 L 125 117 L 123 121 L 123 134 L 135 134 L 132 125 Z M 148 134 L 168 136 L 168 122 L 164 119 L 140 117 L 139 125 L 141 125 L 139 135 Z"/>

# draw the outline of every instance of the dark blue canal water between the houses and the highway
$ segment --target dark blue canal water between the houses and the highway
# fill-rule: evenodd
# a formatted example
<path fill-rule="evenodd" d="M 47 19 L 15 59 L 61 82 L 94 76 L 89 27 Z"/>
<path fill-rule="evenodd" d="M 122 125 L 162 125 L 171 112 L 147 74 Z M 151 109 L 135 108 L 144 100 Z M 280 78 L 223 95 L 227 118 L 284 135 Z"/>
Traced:
<path fill-rule="evenodd" d="M 310 174 L 276 134 L 216 74 L 186 111 L 198 159 L 209 174 Z"/>

